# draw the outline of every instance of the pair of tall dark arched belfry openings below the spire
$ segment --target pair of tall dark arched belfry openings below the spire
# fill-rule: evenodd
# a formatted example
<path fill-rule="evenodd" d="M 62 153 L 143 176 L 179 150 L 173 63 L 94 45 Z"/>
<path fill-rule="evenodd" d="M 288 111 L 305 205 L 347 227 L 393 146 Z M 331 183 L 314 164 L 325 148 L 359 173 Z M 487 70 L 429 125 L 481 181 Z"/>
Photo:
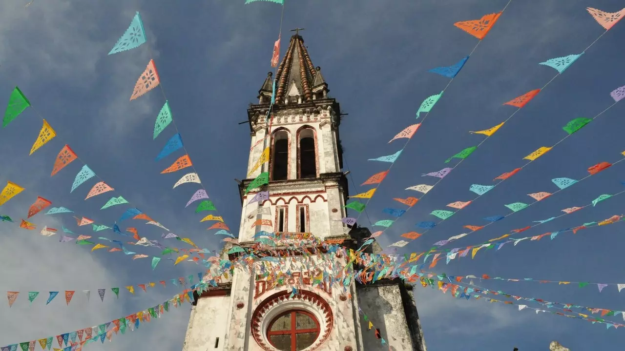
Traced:
<path fill-rule="evenodd" d="M 271 180 L 286 180 L 291 169 L 289 132 L 279 129 L 272 136 Z M 297 179 L 317 177 L 317 148 L 315 131 L 302 127 L 297 131 Z"/>

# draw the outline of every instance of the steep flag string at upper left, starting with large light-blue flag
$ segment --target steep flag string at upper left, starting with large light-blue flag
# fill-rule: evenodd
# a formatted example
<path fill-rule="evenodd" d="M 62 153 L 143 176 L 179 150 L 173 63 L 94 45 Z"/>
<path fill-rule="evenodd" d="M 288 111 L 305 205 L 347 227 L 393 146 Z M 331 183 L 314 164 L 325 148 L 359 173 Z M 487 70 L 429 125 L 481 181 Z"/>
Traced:
<path fill-rule="evenodd" d="M 121 36 L 117 42 L 117 44 L 113 47 L 109 54 L 113 54 L 116 52 L 121 52 L 129 49 L 134 49 L 146 42 L 146 33 L 144 30 L 143 21 L 141 20 L 141 15 L 139 12 L 136 12 L 133 17 L 133 21 L 130 26 L 124 32 L 123 36 Z M 149 45 L 149 44 L 148 44 Z M 158 136 L 161 135 L 164 131 L 166 131 L 167 127 L 171 124 L 174 127 L 174 135 L 169 137 L 168 141 L 161 149 L 161 152 L 156 156 L 155 161 L 161 161 L 166 157 L 174 154 L 177 151 L 183 151 L 184 155 L 179 156 L 176 161 L 174 161 L 171 166 L 166 167 L 161 174 L 168 174 L 181 171 L 183 169 L 191 168 L 191 170 L 184 174 L 176 183 L 174 183 L 173 188 L 183 185 L 183 184 L 199 184 L 200 189 L 197 189 L 196 192 L 191 196 L 191 199 L 187 202 L 185 207 L 189 207 L 189 205 L 194 202 L 201 201 L 197 204 L 196 212 L 201 213 L 205 211 L 216 211 L 217 208 L 214 203 L 209 199 L 208 192 L 206 187 L 202 184 L 202 181 L 199 178 L 199 174 L 197 172 L 196 167 L 191 161 L 191 157 L 189 156 L 189 152 L 184 146 L 183 138 L 180 134 L 178 127 L 176 126 L 176 122 L 173 118 L 173 113 L 171 111 L 171 107 L 169 106 L 169 101 L 165 96 L 164 89 L 162 87 L 161 78 L 158 74 L 158 70 L 156 69 L 156 63 L 154 59 L 151 59 L 148 62 L 148 66 L 143 73 L 139 76 L 134 89 L 133 94 L 131 94 L 130 100 L 138 99 L 138 97 L 143 96 L 147 92 L 151 91 L 155 87 L 161 87 L 161 92 L 163 92 L 164 104 L 159 111 L 158 116 L 156 117 L 156 121 L 154 122 L 154 133 L 153 139 L 156 140 Z M 200 222 L 206 221 L 216 221 L 215 224 L 211 225 L 208 230 L 217 229 L 218 231 L 214 233 L 215 235 L 229 235 L 229 227 L 224 223 L 224 220 L 219 215 L 208 214 L 204 218 L 200 220 Z"/>

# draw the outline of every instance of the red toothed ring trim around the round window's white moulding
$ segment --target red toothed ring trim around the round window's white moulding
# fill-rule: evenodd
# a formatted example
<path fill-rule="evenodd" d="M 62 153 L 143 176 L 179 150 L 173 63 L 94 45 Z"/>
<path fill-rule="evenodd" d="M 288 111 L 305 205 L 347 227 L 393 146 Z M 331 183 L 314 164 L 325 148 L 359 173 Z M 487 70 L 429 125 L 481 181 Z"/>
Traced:
<path fill-rule="evenodd" d="M 321 337 L 317 337 L 317 340 L 312 344 L 309 351 L 316 350 L 324 341 L 326 341 L 327 337 L 329 337 L 330 332 L 332 332 L 332 325 L 334 324 L 334 316 L 332 315 L 332 309 L 330 305 L 324 300 L 321 296 L 314 294 L 314 292 L 309 292 L 307 290 L 298 290 L 299 294 L 290 297 L 291 292 L 282 291 L 273 294 L 267 299 L 265 299 L 261 304 L 256 307 L 254 313 L 252 314 L 251 319 L 251 332 L 256 343 L 262 347 L 263 350 L 272 351 L 269 345 L 266 345 L 264 340 L 262 339 L 261 333 L 264 333 L 265 330 L 261 330 L 261 320 L 262 317 L 266 314 L 266 312 L 274 305 L 280 304 L 281 302 L 288 300 L 305 300 L 311 302 L 316 305 L 319 309 L 322 310 L 323 314 L 326 317 L 326 326 L 325 330 L 321 330 Z"/>

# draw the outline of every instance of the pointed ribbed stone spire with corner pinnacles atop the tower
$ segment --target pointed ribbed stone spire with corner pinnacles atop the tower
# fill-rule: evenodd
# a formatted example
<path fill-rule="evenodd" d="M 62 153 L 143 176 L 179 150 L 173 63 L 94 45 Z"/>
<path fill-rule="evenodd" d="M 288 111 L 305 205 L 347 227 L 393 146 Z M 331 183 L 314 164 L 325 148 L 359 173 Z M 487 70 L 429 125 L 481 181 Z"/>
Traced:
<path fill-rule="evenodd" d="M 263 82 L 259 91 L 261 104 L 271 97 L 271 75 Z M 312 64 L 304 39 L 295 34 L 276 71 L 276 104 L 301 104 L 327 98 L 327 84 L 321 75 L 321 67 Z"/>

